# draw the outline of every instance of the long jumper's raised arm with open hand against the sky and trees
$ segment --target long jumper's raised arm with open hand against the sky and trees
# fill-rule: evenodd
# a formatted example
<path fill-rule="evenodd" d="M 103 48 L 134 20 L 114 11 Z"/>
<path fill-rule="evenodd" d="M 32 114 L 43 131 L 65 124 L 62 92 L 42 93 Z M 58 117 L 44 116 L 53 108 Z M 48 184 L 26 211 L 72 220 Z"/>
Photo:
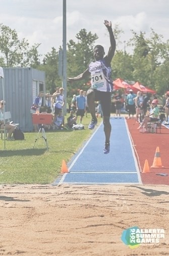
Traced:
<path fill-rule="evenodd" d="M 107 58 L 108 58 L 108 61 L 111 62 L 112 57 L 114 57 L 114 55 L 115 55 L 116 40 L 115 40 L 114 33 L 112 32 L 111 21 L 104 20 L 104 25 L 106 26 L 106 28 L 109 32 L 110 47 L 108 49 Z"/>

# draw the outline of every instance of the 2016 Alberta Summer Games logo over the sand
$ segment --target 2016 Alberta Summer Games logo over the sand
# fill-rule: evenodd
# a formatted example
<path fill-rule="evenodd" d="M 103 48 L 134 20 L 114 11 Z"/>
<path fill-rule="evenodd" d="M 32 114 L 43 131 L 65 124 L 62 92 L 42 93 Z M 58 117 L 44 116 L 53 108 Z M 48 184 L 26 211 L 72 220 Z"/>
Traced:
<path fill-rule="evenodd" d="M 140 245 L 154 245 L 165 237 L 164 229 L 140 229 L 132 227 L 125 229 L 122 233 L 122 241 L 130 248 L 134 249 Z"/>

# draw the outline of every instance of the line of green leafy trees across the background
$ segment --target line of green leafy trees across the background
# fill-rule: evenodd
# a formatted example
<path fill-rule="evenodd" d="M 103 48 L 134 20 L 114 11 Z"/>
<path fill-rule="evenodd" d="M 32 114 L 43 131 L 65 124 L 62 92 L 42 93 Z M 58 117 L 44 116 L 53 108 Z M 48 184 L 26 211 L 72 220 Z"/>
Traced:
<path fill-rule="evenodd" d="M 163 36 L 153 29 L 149 37 L 145 32 L 132 31 L 132 38 L 125 45 L 132 47 L 132 53 L 118 49 L 121 34 L 124 33 L 119 25 L 115 25 L 114 34 L 117 49 L 112 59 L 112 79 L 122 78 L 128 83 L 139 81 L 141 84 L 155 89 L 159 95 L 169 90 L 169 40 L 164 42 Z M 98 39 L 97 34 L 81 29 L 76 41 L 67 43 L 67 76 L 73 77 L 82 73 L 93 60 L 93 46 Z M 54 88 L 62 86 L 62 78 L 58 74 L 59 49 L 54 47 L 44 55 L 42 61 L 38 52 L 40 43 L 30 45 L 28 40 L 19 40 L 16 30 L 0 24 L 0 66 L 2 67 L 32 67 L 45 71 L 46 90 L 54 92 Z M 89 78 L 67 85 L 67 96 L 72 97 L 77 90 L 89 88 Z"/>

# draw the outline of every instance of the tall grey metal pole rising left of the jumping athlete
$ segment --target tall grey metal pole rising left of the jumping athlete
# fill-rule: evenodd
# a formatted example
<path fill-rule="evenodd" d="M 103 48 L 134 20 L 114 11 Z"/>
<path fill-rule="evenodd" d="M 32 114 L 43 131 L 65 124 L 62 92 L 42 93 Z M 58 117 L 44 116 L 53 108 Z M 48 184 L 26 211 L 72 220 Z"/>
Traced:
<path fill-rule="evenodd" d="M 64 88 L 65 105 L 64 115 L 67 113 L 67 52 L 66 52 L 66 0 L 63 0 L 63 78 L 62 87 Z"/>

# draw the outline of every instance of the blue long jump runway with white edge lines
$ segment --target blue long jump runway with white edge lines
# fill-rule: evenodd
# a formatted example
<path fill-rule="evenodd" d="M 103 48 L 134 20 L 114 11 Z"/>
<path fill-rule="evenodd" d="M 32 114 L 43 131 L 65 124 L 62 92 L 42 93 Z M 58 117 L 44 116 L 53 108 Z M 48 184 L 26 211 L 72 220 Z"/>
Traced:
<path fill-rule="evenodd" d="M 63 175 L 59 184 L 141 183 L 126 120 L 111 118 L 110 123 L 110 152 L 103 154 L 101 124 L 72 160 L 69 173 Z"/>

